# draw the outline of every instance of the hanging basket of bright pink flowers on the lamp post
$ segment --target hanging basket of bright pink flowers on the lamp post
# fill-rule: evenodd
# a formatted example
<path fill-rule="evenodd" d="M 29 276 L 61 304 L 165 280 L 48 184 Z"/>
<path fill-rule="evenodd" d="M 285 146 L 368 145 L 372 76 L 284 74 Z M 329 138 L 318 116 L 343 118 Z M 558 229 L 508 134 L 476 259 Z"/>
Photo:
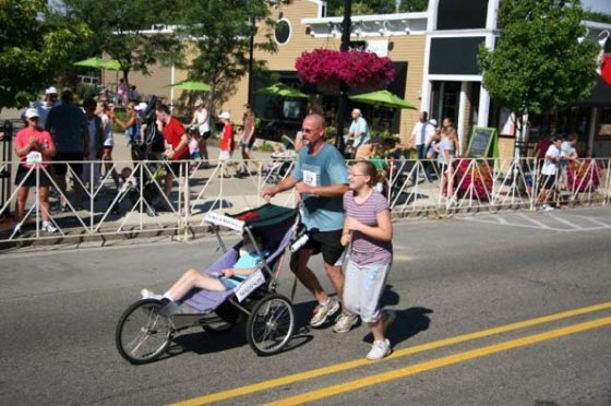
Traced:
<path fill-rule="evenodd" d="M 391 59 L 360 50 L 314 49 L 301 53 L 295 68 L 302 82 L 326 92 L 337 92 L 342 82 L 352 91 L 385 87 L 395 77 Z"/>

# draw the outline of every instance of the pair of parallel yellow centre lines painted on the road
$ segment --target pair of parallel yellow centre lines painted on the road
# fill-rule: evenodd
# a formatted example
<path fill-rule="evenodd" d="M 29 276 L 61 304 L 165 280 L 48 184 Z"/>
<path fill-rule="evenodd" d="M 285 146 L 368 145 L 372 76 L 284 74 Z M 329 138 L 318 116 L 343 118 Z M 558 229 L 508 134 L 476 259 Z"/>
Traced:
<path fill-rule="evenodd" d="M 586 314 L 586 313 L 591 313 L 591 312 L 595 312 L 595 311 L 607 310 L 607 309 L 611 309 L 611 302 L 589 306 L 589 307 L 580 308 L 580 309 L 568 310 L 568 311 L 564 311 L 564 312 L 561 312 L 561 313 L 555 313 L 555 314 L 550 314 L 550 315 L 546 315 L 546 317 L 541 317 L 541 318 L 525 320 L 525 321 L 522 321 L 522 322 L 506 324 L 506 325 L 502 325 L 502 326 L 494 327 L 494 329 L 483 330 L 483 331 L 479 331 L 479 332 L 475 332 L 475 333 L 464 334 L 464 335 L 459 335 L 459 336 L 455 336 L 455 337 L 451 337 L 451 338 L 440 339 L 440 341 L 432 342 L 432 343 L 427 343 L 427 344 L 417 345 L 417 346 L 414 346 L 414 347 L 399 349 L 399 350 L 394 351 L 387 359 L 395 359 L 395 358 L 399 358 L 399 357 L 405 357 L 405 356 L 417 354 L 417 353 L 423 353 L 423 351 L 428 351 L 428 350 L 435 349 L 435 348 L 446 347 L 446 346 L 454 345 L 454 344 L 465 343 L 465 342 L 477 339 L 477 338 L 489 337 L 489 336 L 496 335 L 496 334 L 507 333 L 507 332 L 519 330 L 519 329 L 526 329 L 526 327 L 534 326 L 534 325 L 550 323 L 550 322 L 554 322 L 554 321 L 558 321 L 558 320 L 563 320 L 563 319 L 567 319 L 567 318 L 572 318 L 572 317 L 576 317 L 576 315 L 582 315 L 582 314 Z M 342 383 L 342 384 L 338 384 L 338 385 L 324 387 L 324 389 L 321 389 L 321 390 L 318 390 L 318 391 L 309 392 L 309 393 L 297 395 L 297 396 L 286 397 L 284 399 L 280 399 L 278 402 L 276 402 L 276 403 L 273 403 L 272 405 L 295 405 L 295 404 L 299 404 L 299 403 L 313 402 L 313 401 L 321 399 L 321 398 L 324 398 L 324 397 L 337 395 L 339 393 L 354 391 L 354 390 L 361 389 L 361 387 L 369 386 L 369 385 L 380 384 L 382 382 L 387 382 L 387 381 L 399 379 L 399 378 L 405 378 L 405 377 L 408 377 L 408 375 L 411 375 L 411 374 L 415 374 L 415 373 L 432 370 L 432 369 L 435 369 L 435 368 L 441 368 L 441 367 L 450 366 L 450 365 L 453 365 L 453 363 L 462 362 L 462 361 L 465 361 L 465 360 L 480 358 L 480 357 L 484 357 L 484 356 L 488 356 L 488 355 L 504 351 L 504 350 L 507 350 L 507 349 L 524 347 L 524 346 L 532 345 L 532 344 L 540 343 L 540 342 L 543 342 L 543 341 L 547 341 L 547 339 L 562 337 L 562 336 L 565 336 L 565 335 L 575 334 L 575 333 L 578 333 L 578 332 L 584 332 L 584 331 L 587 331 L 587 330 L 601 327 L 601 326 L 610 325 L 610 324 L 611 324 L 611 318 L 602 318 L 602 319 L 594 320 L 594 321 L 590 321 L 590 322 L 575 324 L 575 325 L 567 326 L 567 327 L 552 330 L 552 331 L 549 331 L 549 332 L 546 332 L 546 333 L 529 335 L 529 336 L 526 336 L 526 337 L 523 337 L 523 338 L 512 339 L 512 341 L 508 341 L 508 342 L 504 342 L 504 343 L 500 343 L 500 344 L 495 344 L 495 345 L 491 345 L 491 346 L 487 346 L 487 347 L 482 347 L 482 348 L 478 348 L 478 349 L 452 355 L 452 356 L 448 356 L 448 357 L 434 359 L 434 360 L 431 360 L 431 361 L 409 366 L 409 367 L 406 367 L 406 368 L 393 370 L 393 371 L 385 372 L 385 373 L 368 375 L 363 379 L 358 379 L 358 380 L 355 380 L 355 381 L 345 382 L 345 383 Z M 204 395 L 204 396 L 201 396 L 201 397 L 195 397 L 195 398 L 192 398 L 192 399 L 189 399 L 189 401 L 176 403 L 175 405 L 192 406 L 192 405 L 202 405 L 202 404 L 208 404 L 208 403 L 214 403 L 214 402 L 227 401 L 227 399 L 230 399 L 230 398 L 233 398 L 233 397 L 243 396 L 243 395 L 248 395 L 248 394 L 255 393 L 255 392 L 266 391 L 266 390 L 269 390 L 269 389 L 273 389 L 273 387 L 284 386 L 284 385 L 291 384 L 291 383 L 295 383 L 295 382 L 300 382 L 300 381 L 304 381 L 304 380 L 309 380 L 309 379 L 313 379 L 313 378 L 328 375 L 328 374 L 332 374 L 332 373 L 343 372 L 343 371 L 347 371 L 347 370 L 355 369 L 355 368 L 362 367 L 362 366 L 367 366 L 367 365 L 371 365 L 371 361 L 368 361 L 367 359 L 358 359 L 358 360 L 354 360 L 354 361 L 336 363 L 336 365 L 325 367 L 325 368 L 319 368 L 319 369 L 313 369 L 313 370 L 309 370 L 309 371 L 303 371 L 303 372 L 295 373 L 295 374 L 278 378 L 278 379 L 273 379 L 273 380 L 268 380 L 268 381 L 264 381 L 264 382 L 254 383 L 254 384 L 251 384 L 251 385 L 245 385 L 245 386 L 236 387 L 236 389 L 232 389 L 232 390 L 227 390 L 227 391 L 213 393 L 213 394 L 209 394 L 209 395 Z"/>

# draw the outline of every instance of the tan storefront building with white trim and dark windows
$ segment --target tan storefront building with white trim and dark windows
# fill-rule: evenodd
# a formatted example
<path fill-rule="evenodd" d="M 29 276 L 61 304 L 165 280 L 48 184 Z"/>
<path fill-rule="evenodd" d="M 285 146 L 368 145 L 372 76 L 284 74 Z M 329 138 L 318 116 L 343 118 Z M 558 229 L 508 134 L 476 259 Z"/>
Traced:
<path fill-rule="evenodd" d="M 430 0 L 426 12 L 354 15 L 350 39 L 369 51 L 391 58 L 396 69 L 395 80 L 388 86 L 391 92 L 429 111 L 429 116 L 438 121 L 452 118 L 464 152 L 474 127 L 494 127 L 501 133 L 510 115 L 481 86 L 482 76 L 477 65 L 479 46 L 483 44 L 493 49 L 499 36 L 499 3 L 500 0 Z M 276 32 L 278 51 L 273 55 L 254 51 L 255 59 L 266 60 L 272 75 L 254 76 L 250 92 L 248 77 L 237 84 L 236 93 L 223 106 L 224 110 L 231 112 L 233 121 L 240 123 L 242 105 L 249 100 L 249 94 L 265 128 L 273 128 L 266 126 L 269 123 L 278 124 L 281 132 L 298 129 L 301 118 L 313 105 L 322 107 L 328 120 L 335 120 L 336 98 L 321 96 L 315 88 L 303 86 L 295 71 L 295 62 L 303 51 L 339 49 L 343 17 L 326 17 L 325 8 L 325 2 L 319 0 L 277 2 L 272 7 L 272 17 L 283 25 L 283 29 Z M 611 31 L 611 24 L 584 24 L 591 40 L 599 40 Z M 609 50 L 611 40 L 608 43 Z M 130 81 L 141 93 L 177 100 L 180 94 L 166 86 L 185 79 L 187 73 L 173 68 L 155 67 L 153 71 L 151 76 L 132 74 Z M 106 79 L 112 80 L 113 74 L 110 72 Z M 268 84 L 271 77 L 300 87 L 311 94 L 310 99 L 278 100 L 253 95 Z M 350 107 L 362 107 L 374 130 L 387 130 L 403 140 L 408 138 L 418 120 L 416 110 Z M 348 122 L 349 117 L 345 120 Z M 532 118 L 531 124 L 531 143 L 551 132 L 577 131 L 582 153 L 589 147 L 598 156 L 610 156 L 611 85 L 600 80 L 592 95 L 568 109 L 567 114 Z M 277 135 L 278 130 L 274 131 L 268 135 Z M 514 139 L 508 135 L 502 134 L 500 140 L 503 157 L 513 155 Z"/>

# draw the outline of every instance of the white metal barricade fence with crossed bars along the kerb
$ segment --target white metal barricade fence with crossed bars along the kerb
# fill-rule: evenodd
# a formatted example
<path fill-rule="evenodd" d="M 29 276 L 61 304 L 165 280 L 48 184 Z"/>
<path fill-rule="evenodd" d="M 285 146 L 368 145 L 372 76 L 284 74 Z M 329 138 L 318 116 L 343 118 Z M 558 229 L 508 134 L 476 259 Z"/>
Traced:
<path fill-rule="evenodd" d="M 261 192 L 290 175 L 295 159 L 253 159 L 248 167 L 256 169 L 239 177 L 236 174 L 244 163 L 237 159 L 223 164 L 214 162 L 215 165 L 206 167 L 203 160 L 58 164 L 68 164 L 68 192 L 62 192 L 58 178 L 51 176 L 51 167 L 31 168 L 2 202 L 0 218 L 4 231 L 0 231 L 0 241 L 139 231 L 187 234 L 192 227 L 205 226 L 208 212 L 237 213 L 263 204 Z M 12 184 L 17 165 L 0 163 L 0 167 L 10 169 Z M 84 166 L 86 179 L 79 165 Z M 387 159 L 383 165 L 379 182 L 394 215 L 434 212 L 450 216 L 464 211 L 536 210 L 542 203 L 541 166 L 535 158 L 456 158 L 444 172 L 431 160 L 399 158 Z M 611 203 L 611 159 L 580 158 L 561 170 L 565 172 L 556 177 L 552 202 L 572 206 Z M 104 176 L 98 177 L 99 171 Z M 229 178 L 224 177 L 226 172 Z M 35 177 L 36 181 L 29 188 L 24 218 L 20 222 L 23 232 L 17 234 L 10 214 L 15 211 L 20 187 L 25 186 L 27 177 Z M 40 177 L 50 178 L 52 192 L 48 213 L 37 198 Z M 169 194 L 166 181 L 171 181 L 167 183 L 170 184 Z M 273 202 L 293 207 L 298 199 L 290 190 L 276 195 Z M 56 232 L 43 229 L 43 214 Z"/>

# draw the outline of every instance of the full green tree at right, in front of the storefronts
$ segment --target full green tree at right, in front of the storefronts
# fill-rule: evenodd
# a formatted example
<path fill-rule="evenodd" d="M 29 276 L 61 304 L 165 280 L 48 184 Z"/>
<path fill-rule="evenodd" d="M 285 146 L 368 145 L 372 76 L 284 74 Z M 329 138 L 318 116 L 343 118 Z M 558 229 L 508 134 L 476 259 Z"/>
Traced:
<path fill-rule="evenodd" d="M 577 40 L 585 28 L 579 1 L 513 0 L 499 10 L 494 50 L 480 48 L 483 86 L 523 117 L 565 107 L 586 97 L 596 79 L 597 47 Z"/>

